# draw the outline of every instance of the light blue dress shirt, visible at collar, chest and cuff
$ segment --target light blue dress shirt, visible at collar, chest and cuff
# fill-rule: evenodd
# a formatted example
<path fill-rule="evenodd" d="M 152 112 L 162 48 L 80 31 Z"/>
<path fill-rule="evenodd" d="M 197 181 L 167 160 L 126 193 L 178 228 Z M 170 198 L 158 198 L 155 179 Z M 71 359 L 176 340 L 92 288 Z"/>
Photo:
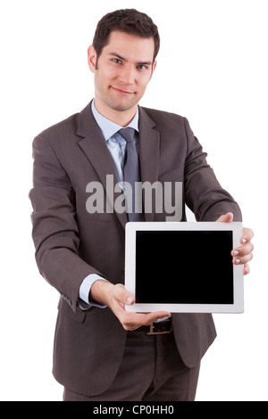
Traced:
<path fill-rule="evenodd" d="M 108 150 L 109 152 L 111 152 L 115 172 L 118 178 L 118 182 L 120 183 L 123 180 L 122 165 L 127 143 L 126 140 L 118 133 L 119 129 L 121 129 L 122 127 L 120 125 L 115 124 L 113 121 L 106 119 L 103 115 L 96 111 L 94 101 L 92 102 L 91 110 L 94 118 L 96 119 L 97 125 L 100 127 L 103 136 L 105 137 L 105 142 L 108 147 Z M 134 128 L 138 132 L 138 110 L 128 127 Z M 136 141 L 138 141 L 138 136 L 136 136 Z M 91 286 L 98 279 L 104 280 L 102 276 L 96 274 L 90 274 L 84 279 L 84 281 L 80 285 L 80 299 L 91 306 L 105 308 L 106 306 L 104 305 L 96 304 L 95 302 L 88 300 Z"/>

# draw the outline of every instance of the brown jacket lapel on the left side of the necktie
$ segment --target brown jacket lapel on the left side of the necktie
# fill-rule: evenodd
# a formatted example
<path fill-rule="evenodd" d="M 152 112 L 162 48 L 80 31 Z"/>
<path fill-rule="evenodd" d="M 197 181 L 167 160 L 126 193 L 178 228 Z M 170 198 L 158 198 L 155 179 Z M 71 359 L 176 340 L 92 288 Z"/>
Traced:
<path fill-rule="evenodd" d="M 83 137 L 79 142 L 80 148 L 95 168 L 96 174 L 105 188 L 111 208 L 114 209 L 114 201 L 121 195 L 121 193 L 113 192 L 112 194 L 111 191 L 107 191 L 106 176 L 113 175 L 113 191 L 115 185 L 118 183 L 118 180 L 113 165 L 113 158 L 105 144 L 105 138 L 92 115 L 91 103 L 89 103 L 88 106 L 80 113 L 77 134 Z M 112 185 L 110 185 L 110 187 L 112 187 Z M 112 196 L 113 200 L 111 199 Z M 120 214 L 116 211 L 114 212 L 119 218 L 121 225 L 124 227 L 128 222 L 127 215 L 125 213 Z"/>

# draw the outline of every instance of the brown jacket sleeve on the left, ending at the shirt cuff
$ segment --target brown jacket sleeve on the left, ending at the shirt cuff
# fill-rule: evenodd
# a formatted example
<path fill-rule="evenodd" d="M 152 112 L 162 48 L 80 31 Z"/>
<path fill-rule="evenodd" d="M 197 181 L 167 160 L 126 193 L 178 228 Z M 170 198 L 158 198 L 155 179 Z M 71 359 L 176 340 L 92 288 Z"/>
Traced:
<path fill-rule="evenodd" d="M 76 311 L 83 280 L 90 274 L 105 275 L 78 256 L 80 232 L 71 180 L 43 136 L 33 142 L 33 158 L 29 198 L 38 269 Z"/>

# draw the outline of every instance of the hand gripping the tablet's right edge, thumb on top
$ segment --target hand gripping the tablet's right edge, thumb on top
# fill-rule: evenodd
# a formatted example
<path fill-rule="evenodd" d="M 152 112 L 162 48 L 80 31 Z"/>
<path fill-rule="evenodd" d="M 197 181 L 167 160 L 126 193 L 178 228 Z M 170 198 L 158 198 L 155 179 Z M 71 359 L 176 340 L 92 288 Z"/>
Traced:
<path fill-rule="evenodd" d="M 217 219 L 218 222 L 222 223 L 231 223 L 233 220 L 233 214 L 231 212 L 228 212 L 227 214 L 221 216 Z M 254 233 L 250 228 L 243 228 L 243 236 L 240 238 L 240 243 L 242 244 L 236 249 L 233 249 L 231 251 L 231 256 L 233 256 L 233 263 L 235 265 L 244 265 L 243 274 L 247 275 L 249 274 L 249 265 L 248 262 L 253 258 L 253 249 L 254 246 L 251 242 L 251 239 L 253 238 Z"/>

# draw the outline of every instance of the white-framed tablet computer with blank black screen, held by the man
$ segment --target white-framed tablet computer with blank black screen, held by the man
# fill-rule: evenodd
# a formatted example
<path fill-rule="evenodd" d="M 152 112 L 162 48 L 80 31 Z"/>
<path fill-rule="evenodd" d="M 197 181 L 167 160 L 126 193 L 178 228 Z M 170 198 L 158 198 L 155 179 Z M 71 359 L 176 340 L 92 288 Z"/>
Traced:
<path fill-rule="evenodd" d="M 135 296 L 127 311 L 242 313 L 241 223 L 130 222 L 126 226 L 125 287 Z"/>

